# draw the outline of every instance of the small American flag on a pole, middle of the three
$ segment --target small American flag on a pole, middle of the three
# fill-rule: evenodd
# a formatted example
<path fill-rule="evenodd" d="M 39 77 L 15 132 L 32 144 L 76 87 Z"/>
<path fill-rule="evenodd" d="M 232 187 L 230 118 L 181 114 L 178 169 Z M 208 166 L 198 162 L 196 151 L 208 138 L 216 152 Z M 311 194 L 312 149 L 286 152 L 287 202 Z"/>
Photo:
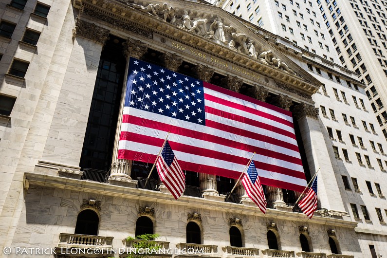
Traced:
<path fill-rule="evenodd" d="M 254 165 L 254 161 L 251 161 L 247 172 L 244 174 L 242 184 L 250 199 L 258 205 L 263 213 L 266 213 L 266 198 L 263 193 L 262 185 L 259 183 L 258 172 Z"/>

